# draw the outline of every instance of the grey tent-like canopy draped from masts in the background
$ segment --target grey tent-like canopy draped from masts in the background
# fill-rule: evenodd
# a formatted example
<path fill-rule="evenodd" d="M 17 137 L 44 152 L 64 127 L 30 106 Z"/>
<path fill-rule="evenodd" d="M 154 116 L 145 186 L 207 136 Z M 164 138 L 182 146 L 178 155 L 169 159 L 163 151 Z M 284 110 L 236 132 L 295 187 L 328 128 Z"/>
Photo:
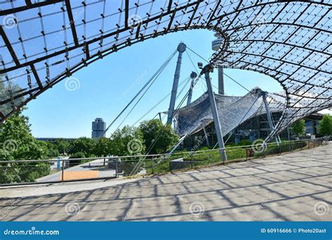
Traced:
<path fill-rule="evenodd" d="M 242 97 L 215 94 L 221 131 L 227 135 L 237 126 L 258 114 L 266 114 L 263 107 L 261 89 L 254 88 Z M 267 96 L 270 112 L 282 112 L 284 105 Z M 190 105 L 180 108 L 174 115 L 179 135 L 189 135 L 202 129 L 213 121 L 212 109 L 207 93 Z"/>

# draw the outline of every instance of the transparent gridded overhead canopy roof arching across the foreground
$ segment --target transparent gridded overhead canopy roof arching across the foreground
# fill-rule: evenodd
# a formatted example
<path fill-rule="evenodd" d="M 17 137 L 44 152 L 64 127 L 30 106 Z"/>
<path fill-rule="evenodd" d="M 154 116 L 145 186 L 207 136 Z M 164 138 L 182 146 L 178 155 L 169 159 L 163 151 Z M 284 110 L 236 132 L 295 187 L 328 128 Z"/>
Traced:
<path fill-rule="evenodd" d="M 328 1 L 1 1 L 0 121 L 91 62 L 139 41 L 210 29 L 223 44 L 215 66 L 249 69 L 284 86 L 273 135 L 331 107 Z M 77 79 L 66 80 L 69 87 Z M 287 114 L 286 114 L 287 113 Z"/>

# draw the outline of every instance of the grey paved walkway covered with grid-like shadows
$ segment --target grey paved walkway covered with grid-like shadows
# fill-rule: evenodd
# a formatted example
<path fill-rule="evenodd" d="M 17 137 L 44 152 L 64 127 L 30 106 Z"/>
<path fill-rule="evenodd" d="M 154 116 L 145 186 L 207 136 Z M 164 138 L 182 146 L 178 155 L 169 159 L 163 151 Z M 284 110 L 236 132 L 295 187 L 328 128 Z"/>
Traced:
<path fill-rule="evenodd" d="M 331 163 L 328 145 L 78 192 L 11 189 L 22 197 L 0 199 L 0 219 L 331 221 Z"/>

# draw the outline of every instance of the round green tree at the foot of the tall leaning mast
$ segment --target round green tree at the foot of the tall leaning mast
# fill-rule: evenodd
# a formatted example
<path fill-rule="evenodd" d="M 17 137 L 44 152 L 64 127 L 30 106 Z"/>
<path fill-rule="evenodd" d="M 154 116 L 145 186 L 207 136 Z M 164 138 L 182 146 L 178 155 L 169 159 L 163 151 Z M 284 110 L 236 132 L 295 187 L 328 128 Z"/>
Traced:
<path fill-rule="evenodd" d="M 159 119 L 143 121 L 139 125 L 145 140 L 148 154 L 165 153 L 179 141 L 179 135 L 174 132 L 170 124 L 164 128 Z"/>

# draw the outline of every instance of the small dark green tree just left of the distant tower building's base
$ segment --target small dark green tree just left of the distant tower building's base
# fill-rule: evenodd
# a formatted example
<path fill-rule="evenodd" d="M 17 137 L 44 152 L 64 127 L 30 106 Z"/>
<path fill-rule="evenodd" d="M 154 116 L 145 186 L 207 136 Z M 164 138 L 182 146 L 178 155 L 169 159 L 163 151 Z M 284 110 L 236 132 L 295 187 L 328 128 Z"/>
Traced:
<path fill-rule="evenodd" d="M 93 156 L 96 141 L 91 138 L 77 138 L 71 145 L 69 145 L 67 151 L 69 154 L 74 154 L 76 152 L 83 152 L 86 157 Z"/>

